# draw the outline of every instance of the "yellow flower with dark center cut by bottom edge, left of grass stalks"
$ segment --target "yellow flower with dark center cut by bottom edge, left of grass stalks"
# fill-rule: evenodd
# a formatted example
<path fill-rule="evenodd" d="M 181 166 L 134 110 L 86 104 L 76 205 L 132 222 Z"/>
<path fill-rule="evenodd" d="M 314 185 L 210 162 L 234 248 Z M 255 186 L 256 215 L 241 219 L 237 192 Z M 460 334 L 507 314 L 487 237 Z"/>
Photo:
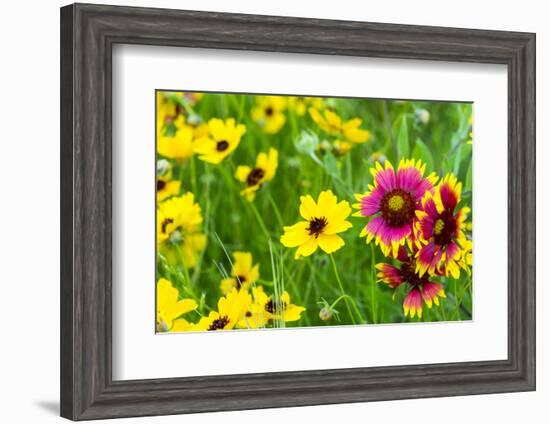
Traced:
<path fill-rule="evenodd" d="M 247 291 L 233 289 L 218 301 L 218 310 L 210 312 L 207 317 L 202 317 L 193 329 L 198 331 L 231 330 L 243 318 L 251 302 L 252 298 Z"/>

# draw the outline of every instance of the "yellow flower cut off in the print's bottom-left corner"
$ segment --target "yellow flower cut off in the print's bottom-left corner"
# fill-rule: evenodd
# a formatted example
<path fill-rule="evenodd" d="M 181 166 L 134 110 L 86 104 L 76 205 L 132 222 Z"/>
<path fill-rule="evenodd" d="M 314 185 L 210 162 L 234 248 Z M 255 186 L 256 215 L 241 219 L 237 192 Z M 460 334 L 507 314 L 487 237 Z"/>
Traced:
<path fill-rule="evenodd" d="M 193 299 L 178 300 L 178 290 L 164 278 L 157 282 L 157 331 L 185 331 L 190 324 L 179 318 L 187 312 L 197 309 Z M 179 318 L 179 319 L 178 319 Z"/>

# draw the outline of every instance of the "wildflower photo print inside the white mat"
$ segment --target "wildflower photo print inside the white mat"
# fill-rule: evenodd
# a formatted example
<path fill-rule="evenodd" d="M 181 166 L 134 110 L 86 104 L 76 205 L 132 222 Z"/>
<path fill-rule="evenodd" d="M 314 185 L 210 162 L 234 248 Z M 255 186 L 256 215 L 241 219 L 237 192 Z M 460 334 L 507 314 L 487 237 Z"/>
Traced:
<path fill-rule="evenodd" d="M 156 92 L 157 332 L 472 318 L 472 105 Z"/>

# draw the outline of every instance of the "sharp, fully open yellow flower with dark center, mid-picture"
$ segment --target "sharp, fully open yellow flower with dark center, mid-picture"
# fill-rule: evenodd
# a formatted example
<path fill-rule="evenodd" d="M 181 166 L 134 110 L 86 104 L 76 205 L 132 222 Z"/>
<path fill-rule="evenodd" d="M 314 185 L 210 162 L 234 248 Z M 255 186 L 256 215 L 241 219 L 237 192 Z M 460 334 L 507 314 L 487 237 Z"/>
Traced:
<path fill-rule="evenodd" d="M 325 253 L 333 253 L 345 244 L 338 233 L 351 228 L 351 223 L 346 221 L 350 213 L 349 203 L 345 200 L 338 203 L 330 190 L 321 192 L 317 203 L 310 195 L 302 196 L 300 215 L 305 221 L 284 227 L 281 243 L 298 247 L 295 259 L 311 255 L 318 247 Z"/>

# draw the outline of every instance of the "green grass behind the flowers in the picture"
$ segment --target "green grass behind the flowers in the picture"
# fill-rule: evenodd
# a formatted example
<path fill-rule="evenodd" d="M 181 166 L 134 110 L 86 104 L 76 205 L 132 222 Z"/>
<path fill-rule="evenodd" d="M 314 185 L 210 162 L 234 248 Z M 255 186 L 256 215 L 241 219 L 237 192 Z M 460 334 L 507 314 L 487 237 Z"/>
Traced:
<path fill-rule="evenodd" d="M 471 207 L 472 148 L 470 140 L 470 103 L 396 101 L 381 99 L 324 99 L 343 119 L 359 117 L 361 128 L 371 133 L 370 140 L 356 144 L 347 155 L 318 154 L 319 161 L 296 148 L 302 131 L 311 131 L 319 140 L 326 135 L 311 120 L 309 114 L 298 116 L 287 109 L 287 121 L 273 135 L 265 134 L 251 119 L 250 110 L 256 96 L 206 93 L 193 106 L 186 105 L 188 114 L 203 121 L 210 118 L 233 117 L 246 125 L 247 132 L 237 150 L 220 165 L 189 159 L 174 166 L 174 176 L 182 181 L 182 192 L 192 191 L 204 216 L 203 231 L 208 244 L 194 269 L 170 266 L 162 259 L 157 264 L 157 278 L 167 277 L 180 288 L 183 297 L 199 301 L 198 311 L 189 317 L 198 320 L 199 314 L 216 309 L 222 296 L 219 283 L 224 272 L 230 273 L 227 253 L 249 251 L 254 263 L 260 264 L 261 280 L 266 292 L 287 290 L 292 303 L 306 311 L 297 322 L 286 326 L 325 326 L 352 324 L 344 301 L 336 306 L 338 318 L 323 321 L 319 318 L 321 299 L 329 304 L 341 294 L 330 257 L 318 250 L 312 256 L 294 259 L 294 249 L 279 242 L 283 225 L 300 219 L 300 196 L 311 194 L 315 199 L 322 190 L 331 189 L 339 200 L 355 203 L 354 193 L 363 193 L 372 183 L 369 169 L 373 153 L 383 154 L 394 165 L 401 158 L 421 159 L 427 173 L 435 171 L 440 177 L 453 172 L 463 183 L 462 203 Z M 429 120 L 421 119 L 429 114 Z M 279 167 L 275 178 L 257 194 L 253 204 L 239 192 L 241 184 L 233 174 L 238 165 L 253 165 L 259 152 L 270 147 L 279 151 Z M 159 156 L 160 158 L 160 156 Z M 368 323 L 411 321 L 403 316 L 402 301 L 406 294 L 401 287 L 394 294 L 385 284 L 377 282 L 374 264 L 385 258 L 377 246 L 367 245 L 359 233 L 367 223 L 365 218 L 350 217 L 353 227 L 340 234 L 346 244 L 333 254 L 346 294 L 353 298 L 358 312 Z M 461 273 L 460 279 L 437 277 L 447 294 L 440 307 L 424 306 L 421 321 L 469 320 L 472 316 L 471 276 Z M 403 285 L 405 286 L 405 285 Z M 196 317 L 192 317 L 196 314 Z M 357 321 L 357 318 L 355 318 Z M 413 318 L 412 321 L 418 321 Z M 279 323 L 281 324 L 281 323 Z"/>

